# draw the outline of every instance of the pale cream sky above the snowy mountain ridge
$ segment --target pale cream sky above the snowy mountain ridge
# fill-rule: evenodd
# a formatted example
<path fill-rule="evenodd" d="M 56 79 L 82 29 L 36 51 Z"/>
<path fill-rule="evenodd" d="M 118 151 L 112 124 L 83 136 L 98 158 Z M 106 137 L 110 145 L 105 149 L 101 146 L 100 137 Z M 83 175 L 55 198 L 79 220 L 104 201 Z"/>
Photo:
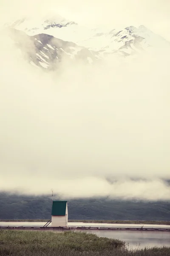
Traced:
<path fill-rule="evenodd" d="M 81 24 L 144 25 L 170 40 L 169 0 L 0 0 L 1 18 L 57 13 Z"/>

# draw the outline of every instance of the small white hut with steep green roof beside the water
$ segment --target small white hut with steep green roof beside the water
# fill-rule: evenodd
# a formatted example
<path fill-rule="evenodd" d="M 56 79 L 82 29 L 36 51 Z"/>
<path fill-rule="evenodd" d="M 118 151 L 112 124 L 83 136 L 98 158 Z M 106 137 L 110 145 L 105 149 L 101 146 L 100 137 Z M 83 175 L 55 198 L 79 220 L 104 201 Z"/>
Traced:
<path fill-rule="evenodd" d="M 68 226 L 67 201 L 53 201 L 51 212 L 51 227 Z"/>

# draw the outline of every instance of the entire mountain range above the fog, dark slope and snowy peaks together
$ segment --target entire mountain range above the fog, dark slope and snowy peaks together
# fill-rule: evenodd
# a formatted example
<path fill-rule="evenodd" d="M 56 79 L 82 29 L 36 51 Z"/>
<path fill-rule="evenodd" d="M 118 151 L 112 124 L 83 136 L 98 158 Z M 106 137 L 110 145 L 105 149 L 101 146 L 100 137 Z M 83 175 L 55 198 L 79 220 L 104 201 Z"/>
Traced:
<path fill-rule="evenodd" d="M 45 69 L 55 69 L 62 58 L 93 64 L 111 55 L 125 60 L 143 51 L 170 49 L 170 42 L 144 26 L 92 29 L 59 15 L 23 18 L 6 26 L 30 63 Z"/>

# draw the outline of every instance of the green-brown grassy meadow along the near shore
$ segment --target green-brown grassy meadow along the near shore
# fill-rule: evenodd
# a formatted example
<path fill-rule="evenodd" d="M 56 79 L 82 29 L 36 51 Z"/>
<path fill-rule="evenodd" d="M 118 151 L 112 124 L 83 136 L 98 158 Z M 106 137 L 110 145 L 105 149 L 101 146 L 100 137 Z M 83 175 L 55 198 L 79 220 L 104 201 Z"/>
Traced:
<path fill-rule="evenodd" d="M 170 256 L 170 247 L 128 250 L 88 233 L 0 230 L 0 256 Z"/>

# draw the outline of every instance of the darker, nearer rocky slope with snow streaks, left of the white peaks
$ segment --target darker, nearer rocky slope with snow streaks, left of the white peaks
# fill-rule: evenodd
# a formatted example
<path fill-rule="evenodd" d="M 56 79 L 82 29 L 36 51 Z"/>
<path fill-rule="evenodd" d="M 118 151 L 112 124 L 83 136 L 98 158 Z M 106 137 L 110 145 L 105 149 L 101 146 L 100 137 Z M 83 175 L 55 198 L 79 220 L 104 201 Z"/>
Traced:
<path fill-rule="evenodd" d="M 17 29 L 10 29 L 9 33 L 23 57 L 34 67 L 55 70 L 64 58 L 66 61 L 83 61 L 93 64 L 99 60 L 95 51 L 79 47 L 73 42 L 63 41 L 51 35 L 39 34 L 30 36 Z"/>

